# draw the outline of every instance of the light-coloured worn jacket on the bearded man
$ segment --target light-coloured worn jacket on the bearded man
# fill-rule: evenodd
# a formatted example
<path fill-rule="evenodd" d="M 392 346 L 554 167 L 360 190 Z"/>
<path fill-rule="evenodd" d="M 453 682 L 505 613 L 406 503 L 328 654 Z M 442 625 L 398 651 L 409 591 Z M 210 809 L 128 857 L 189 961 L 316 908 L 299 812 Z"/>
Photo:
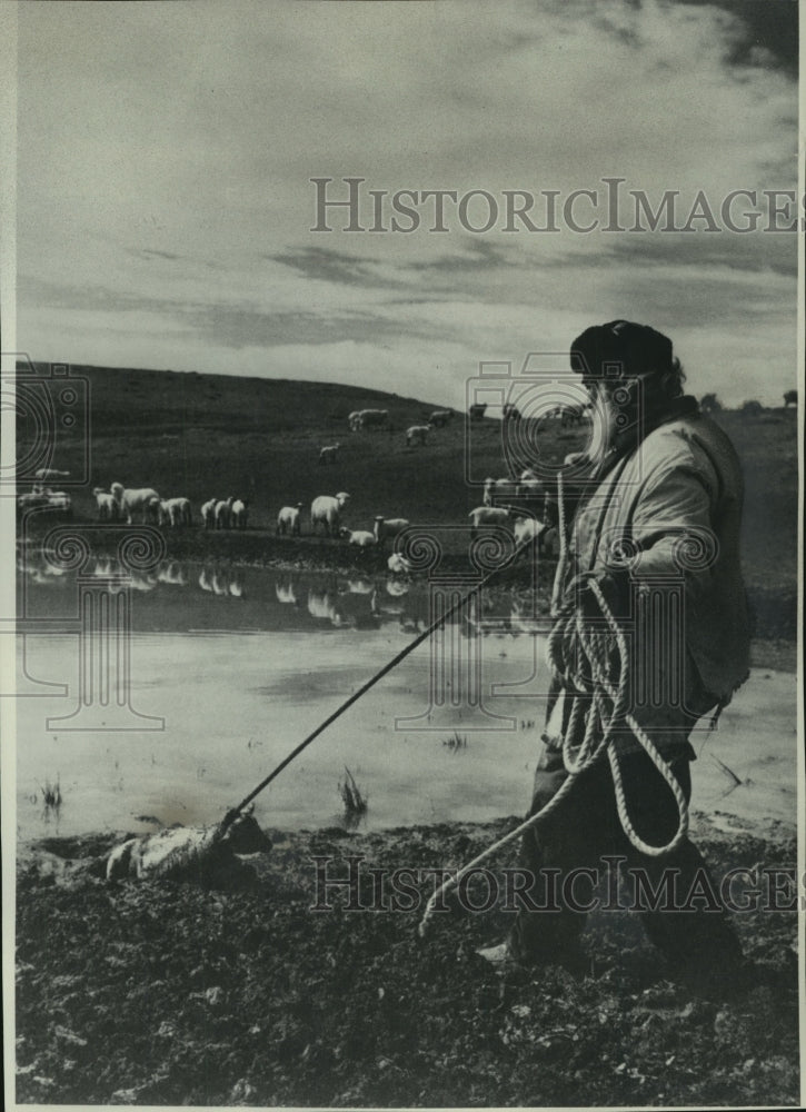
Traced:
<path fill-rule="evenodd" d="M 747 678 L 749 618 L 739 560 L 739 460 L 725 433 L 689 406 L 649 431 L 580 502 L 568 574 L 604 576 L 619 563 L 619 549 L 628 557 L 633 597 L 656 599 L 653 632 L 640 615 L 634 623 L 636 653 L 657 655 L 658 638 L 683 643 L 686 701 L 701 714 L 729 702 Z M 683 598 L 680 618 L 673 596 Z M 698 676 L 688 675 L 691 661 Z M 693 686 L 700 688 L 697 697 Z"/>

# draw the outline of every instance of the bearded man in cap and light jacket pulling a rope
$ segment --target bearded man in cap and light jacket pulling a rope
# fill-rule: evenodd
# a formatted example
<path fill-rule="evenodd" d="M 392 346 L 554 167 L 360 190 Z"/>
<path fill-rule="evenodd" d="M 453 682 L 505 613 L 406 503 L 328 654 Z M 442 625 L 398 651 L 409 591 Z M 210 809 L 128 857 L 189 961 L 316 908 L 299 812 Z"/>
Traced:
<path fill-rule="evenodd" d="M 739 463 L 725 434 L 694 398 L 683 396 L 683 371 L 666 336 L 616 320 L 586 329 L 570 358 L 590 394 L 598 436 L 584 477 L 574 465 L 563 484 L 568 506 L 574 500 L 576 508 L 555 597 L 581 614 L 583 636 L 598 633 L 605 644 L 607 623 L 590 580 L 598 585 L 627 635 L 629 715 L 687 803 L 696 759 L 690 731 L 701 715 L 718 715 L 748 673 Z M 566 677 L 574 675 L 578 649 L 578 643 L 565 645 Z M 574 693 L 565 687 L 553 716 L 557 725 L 544 734 L 530 814 L 568 775 L 561 745 L 571 728 Z M 614 744 L 635 831 L 653 846 L 668 845 L 679 823 L 669 784 L 635 728 L 619 723 Z M 549 881 L 556 891 L 557 876 L 571 870 L 598 874 L 608 857 L 620 858 L 626 871 L 640 870 L 654 892 L 673 891 L 664 881 L 674 876 L 678 897 L 708 878 L 688 838 L 660 856 L 636 848 L 619 818 L 608 761 L 598 759 L 527 832 L 520 864 L 535 876 L 535 903 L 550 909 Z M 649 901 L 637 910 L 680 975 L 699 979 L 715 967 L 729 975 L 742 951 L 722 902 L 714 906 L 708 893 L 690 904 L 675 911 Z M 496 960 L 506 949 L 521 962 L 573 962 L 584 925 L 585 915 L 568 906 L 521 910 L 505 947 L 482 953 Z"/>

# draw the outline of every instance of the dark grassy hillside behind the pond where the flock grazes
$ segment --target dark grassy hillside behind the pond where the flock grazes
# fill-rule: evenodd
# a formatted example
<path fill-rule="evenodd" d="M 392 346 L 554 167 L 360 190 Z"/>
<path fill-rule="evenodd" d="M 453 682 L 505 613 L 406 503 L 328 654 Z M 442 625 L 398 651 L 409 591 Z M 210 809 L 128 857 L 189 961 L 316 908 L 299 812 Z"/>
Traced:
<path fill-rule="evenodd" d="M 481 502 L 484 478 L 507 473 L 514 443 L 499 420 L 466 426 L 457 415 L 431 433 L 426 447 L 409 449 L 405 429 L 441 407 L 360 387 L 93 367 L 73 367 L 71 374 L 89 384 L 91 417 L 89 481 L 71 489 L 78 519 L 94 517 L 93 486 L 108 489 L 118 480 L 152 486 L 163 497 L 188 496 L 195 507 L 213 496 L 248 498 L 250 532 L 266 530 L 267 545 L 280 506 L 307 506 L 316 495 L 337 490 L 352 496 L 347 522 L 354 528 L 370 527 L 376 514 L 464 527 L 468 510 Z M 347 415 L 359 408 L 387 409 L 391 429 L 350 433 Z M 718 419 L 744 465 L 748 587 L 765 606 L 792 610 L 794 622 L 795 410 L 756 418 L 724 413 Z M 34 428 L 21 420 L 18 454 L 33 435 Z M 319 466 L 320 447 L 337 441 L 338 464 Z M 581 430 L 548 423 L 540 450 L 556 460 L 584 441 Z M 515 444 L 520 469 L 528 445 Z M 58 443 L 53 466 L 76 475 L 82 453 L 82 436 L 68 434 Z"/>

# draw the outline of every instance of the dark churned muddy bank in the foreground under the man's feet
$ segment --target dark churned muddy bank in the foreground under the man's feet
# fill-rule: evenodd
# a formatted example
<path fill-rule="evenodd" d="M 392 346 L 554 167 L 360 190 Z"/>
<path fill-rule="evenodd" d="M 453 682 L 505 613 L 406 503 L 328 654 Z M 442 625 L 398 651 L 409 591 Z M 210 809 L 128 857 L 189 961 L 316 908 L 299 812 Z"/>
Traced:
<path fill-rule="evenodd" d="M 586 967 L 501 973 L 475 953 L 506 931 L 500 905 L 441 914 L 425 943 L 420 912 L 349 911 L 337 892 L 311 911 L 314 857 L 330 877 L 346 875 L 348 856 L 366 858 L 358 900 L 382 904 L 388 872 L 374 880 L 369 866 L 456 866 L 516 822 L 275 831 L 255 885 L 231 892 L 108 887 L 108 837 L 29 847 L 18 876 L 18 1100 L 796 1105 L 793 912 L 737 915 L 755 975 L 698 992 L 669 979 L 626 912 L 591 916 Z M 694 836 L 716 875 L 796 861 L 784 824 L 699 815 Z M 494 863 L 510 864 L 508 851 Z"/>

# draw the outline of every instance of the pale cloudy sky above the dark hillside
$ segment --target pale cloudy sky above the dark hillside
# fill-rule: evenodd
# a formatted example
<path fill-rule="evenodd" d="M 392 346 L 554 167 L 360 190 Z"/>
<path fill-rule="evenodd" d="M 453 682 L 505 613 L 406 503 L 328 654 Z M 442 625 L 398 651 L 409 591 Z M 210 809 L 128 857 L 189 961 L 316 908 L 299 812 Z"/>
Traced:
<path fill-rule="evenodd" d="M 17 348 L 460 407 L 479 364 L 627 318 L 691 393 L 779 405 L 797 245 L 770 226 L 799 209 L 763 191 L 798 187 L 796 43 L 789 0 L 21 4 Z M 311 179 L 350 177 L 366 230 L 344 207 L 312 230 Z M 395 231 L 399 190 L 465 209 Z M 517 190 L 537 228 L 556 197 L 556 231 L 505 230 Z M 669 190 L 686 231 L 636 216 Z M 723 219 L 735 190 L 756 201 Z"/>

